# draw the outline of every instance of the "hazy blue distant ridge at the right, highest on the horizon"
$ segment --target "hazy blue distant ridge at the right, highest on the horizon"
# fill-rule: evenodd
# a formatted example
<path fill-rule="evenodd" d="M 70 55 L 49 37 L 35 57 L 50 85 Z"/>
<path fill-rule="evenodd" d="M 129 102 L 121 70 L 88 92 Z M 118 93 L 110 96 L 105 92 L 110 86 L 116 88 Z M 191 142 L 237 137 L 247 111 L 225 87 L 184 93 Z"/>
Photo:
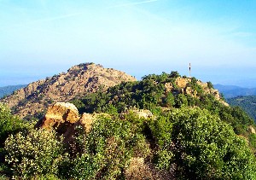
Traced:
<path fill-rule="evenodd" d="M 214 88 L 224 94 L 224 98 L 236 96 L 252 96 L 256 95 L 256 88 L 241 88 L 236 85 L 214 84 Z"/>

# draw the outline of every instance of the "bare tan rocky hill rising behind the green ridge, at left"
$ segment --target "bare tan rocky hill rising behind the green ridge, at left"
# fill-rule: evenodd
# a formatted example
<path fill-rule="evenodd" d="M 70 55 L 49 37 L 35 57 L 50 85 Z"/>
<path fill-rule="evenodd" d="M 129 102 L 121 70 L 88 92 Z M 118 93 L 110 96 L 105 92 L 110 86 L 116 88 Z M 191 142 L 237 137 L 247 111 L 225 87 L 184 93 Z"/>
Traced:
<path fill-rule="evenodd" d="M 0 102 L 8 104 L 21 118 L 37 116 L 53 102 L 68 102 L 90 92 L 107 90 L 108 87 L 123 81 L 135 80 L 136 78 L 113 68 L 84 63 L 71 67 L 67 73 L 59 73 L 51 78 L 28 84 Z"/>

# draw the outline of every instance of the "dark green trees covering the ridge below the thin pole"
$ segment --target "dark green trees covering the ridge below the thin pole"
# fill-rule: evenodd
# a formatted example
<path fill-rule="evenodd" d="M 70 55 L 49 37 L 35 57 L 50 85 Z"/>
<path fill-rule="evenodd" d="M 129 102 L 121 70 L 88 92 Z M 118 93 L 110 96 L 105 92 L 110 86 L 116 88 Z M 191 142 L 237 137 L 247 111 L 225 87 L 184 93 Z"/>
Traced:
<path fill-rule="evenodd" d="M 201 107 L 232 125 L 237 134 L 246 134 L 247 125 L 253 124 L 246 113 L 237 107 L 224 106 L 214 96 L 207 94 L 196 78 L 191 78 L 187 84 L 193 95 L 183 94 L 176 84 L 178 77 L 177 72 L 149 74 L 141 81 L 124 82 L 107 92 L 98 91 L 74 102 L 79 106 L 79 113 L 121 113 L 131 107 L 149 109 L 156 113 L 160 107 Z M 171 84 L 172 90 L 166 91 L 165 84 Z M 212 87 L 210 82 L 207 84 Z"/>

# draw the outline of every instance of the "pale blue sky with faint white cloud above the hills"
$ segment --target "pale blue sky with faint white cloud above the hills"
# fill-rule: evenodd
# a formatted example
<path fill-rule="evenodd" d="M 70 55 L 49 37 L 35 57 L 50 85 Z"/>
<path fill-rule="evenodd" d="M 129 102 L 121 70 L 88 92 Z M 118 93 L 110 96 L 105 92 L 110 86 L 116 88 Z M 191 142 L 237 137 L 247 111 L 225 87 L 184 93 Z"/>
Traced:
<path fill-rule="evenodd" d="M 256 87 L 255 22 L 256 0 L 0 0 L 0 86 L 95 62 Z"/>

